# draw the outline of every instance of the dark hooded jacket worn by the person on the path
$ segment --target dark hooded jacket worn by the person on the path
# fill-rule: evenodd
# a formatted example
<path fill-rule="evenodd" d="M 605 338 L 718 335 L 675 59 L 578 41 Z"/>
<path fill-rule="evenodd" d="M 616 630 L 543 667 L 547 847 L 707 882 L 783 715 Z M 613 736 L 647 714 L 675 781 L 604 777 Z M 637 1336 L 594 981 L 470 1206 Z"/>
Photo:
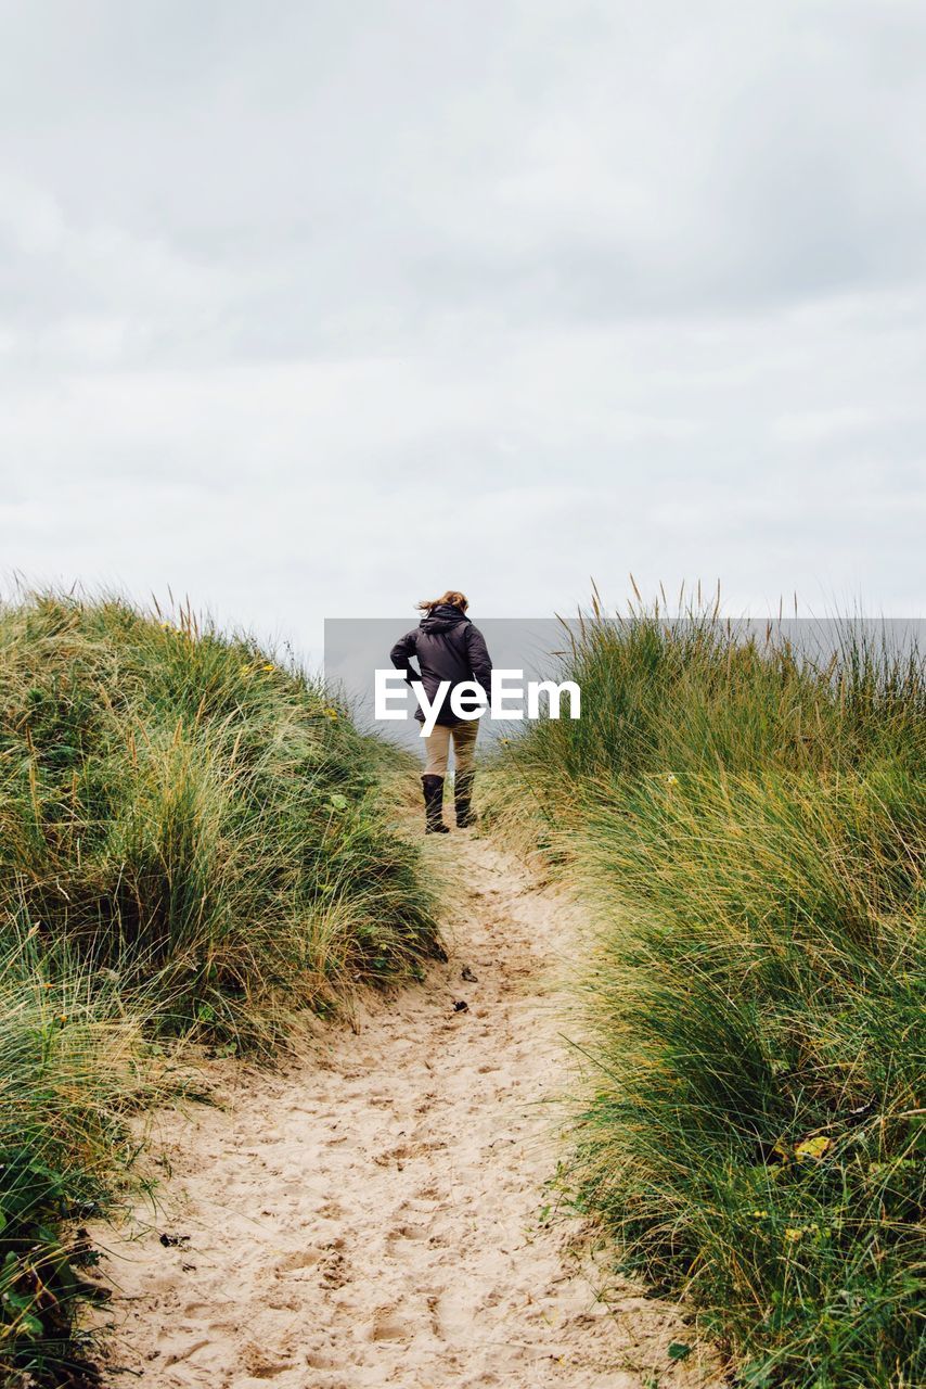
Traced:
<path fill-rule="evenodd" d="M 421 676 L 410 665 L 412 657 L 418 660 Z M 462 681 L 476 681 L 489 697 L 491 682 L 491 661 L 486 650 L 486 639 L 478 626 L 473 626 L 465 613 L 440 603 L 436 608 L 422 617 L 418 626 L 396 642 L 389 658 L 397 671 L 405 672 L 408 682 L 421 679 L 428 699 L 433 701 L 437 686 L 441 681 L 450 681 L 451 689 L 440 707 L 437 722 L 444 726 L 454 726 L 461 720 L 450 707 L 453 686 Z M 475 700 L 465 703 L 475 707 Z M 425 715 L 419 708 L 415 718 L 422 724 Z"/>

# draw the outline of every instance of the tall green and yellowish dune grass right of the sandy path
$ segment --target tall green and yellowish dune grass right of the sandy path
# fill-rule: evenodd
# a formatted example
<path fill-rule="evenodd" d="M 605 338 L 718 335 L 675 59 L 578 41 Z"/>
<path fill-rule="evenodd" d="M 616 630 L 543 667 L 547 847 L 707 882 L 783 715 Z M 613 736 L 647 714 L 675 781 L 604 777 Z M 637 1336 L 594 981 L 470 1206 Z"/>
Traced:
<path fill-rule="evenodd" d="M 922 663 L 598 611 L 569 665 L 583 718 L 511 745 L 496 813 L 600 921 L 576 1199 L 739 1383 L 920 1383 Z"/>

